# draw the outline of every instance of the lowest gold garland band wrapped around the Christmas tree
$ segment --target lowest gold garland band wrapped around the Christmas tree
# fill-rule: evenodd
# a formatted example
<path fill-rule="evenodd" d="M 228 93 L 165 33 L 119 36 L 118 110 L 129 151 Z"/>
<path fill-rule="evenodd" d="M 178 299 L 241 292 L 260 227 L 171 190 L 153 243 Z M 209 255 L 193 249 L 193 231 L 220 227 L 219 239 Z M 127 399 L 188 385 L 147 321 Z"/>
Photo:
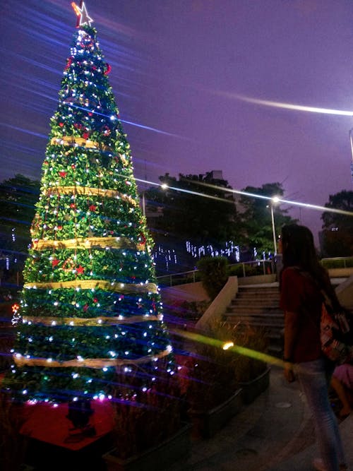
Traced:
<path fill-rule="evenodd" d="M 55 360 L 49 361 L 45 358 L 25 358 L 17 357 L 16 354 L 13 355 L 13 360 L 17 366 L 47 366 L 49 368 L 68 368 L 78 366 L 80 368 L 109 368 L 109 366 L 121 366 L 123 364 L 143 364 L 154 361 L 155 359 L 160 359 L 167 357 L 170 350 L 163 350 L 158 354 L 147 355 L 146 357 L 140 357 L 137 359 L 113 359 L 113 358 L 88 358 L 88 359 L 74 359 L 68 360 L 66 362 L 57 362 Z"/>

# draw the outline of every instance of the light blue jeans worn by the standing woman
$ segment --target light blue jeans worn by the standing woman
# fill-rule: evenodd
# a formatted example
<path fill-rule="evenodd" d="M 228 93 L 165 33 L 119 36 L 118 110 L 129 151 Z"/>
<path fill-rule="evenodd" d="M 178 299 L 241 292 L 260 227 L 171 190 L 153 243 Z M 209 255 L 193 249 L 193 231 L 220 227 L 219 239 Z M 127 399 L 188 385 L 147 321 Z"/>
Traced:
<path fill-rule="evenodd" d="M 327 471 L 339 471 L 345 463 L 340 429 L 328 399 L 328 387 L 335 365 L 324 358 L 297 363 L 295 373 L 313 416 L 316 441 Z"/>

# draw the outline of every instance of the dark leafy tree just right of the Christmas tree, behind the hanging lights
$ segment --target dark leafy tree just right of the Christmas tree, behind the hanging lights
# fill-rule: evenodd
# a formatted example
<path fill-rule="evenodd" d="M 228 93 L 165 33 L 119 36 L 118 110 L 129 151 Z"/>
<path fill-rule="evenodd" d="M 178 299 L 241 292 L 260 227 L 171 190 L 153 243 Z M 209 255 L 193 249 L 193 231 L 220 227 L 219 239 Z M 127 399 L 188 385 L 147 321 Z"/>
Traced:
<path fill-rule="evenodd" d="M 239 237 L 234 198 L 224 190 L 231 187 L 227 181 L 213 179 L 210 174 L 179 174 L 179 180 L 165 174 L 160 181 L 167 184 L 167 189 L 152 188 L 145 192 L 147 214 L 160 208 L 160 217 L 148 220 L 155 242 L 164 242 L 168 236 L 201 244 L 222 244 Z"/>

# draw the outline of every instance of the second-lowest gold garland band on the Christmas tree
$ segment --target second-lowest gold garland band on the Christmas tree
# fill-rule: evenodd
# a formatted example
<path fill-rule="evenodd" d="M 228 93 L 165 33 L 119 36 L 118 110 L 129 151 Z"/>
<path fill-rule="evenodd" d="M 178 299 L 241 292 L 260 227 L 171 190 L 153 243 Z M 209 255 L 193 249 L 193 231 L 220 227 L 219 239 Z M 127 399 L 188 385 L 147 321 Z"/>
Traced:
<path fill-rule="evenodd" d="M 119 324 L 132 324 L 150 321 L 162 321 L 162 316 L 131 316 L 131 317 L 46 317 L 46 316 L 23 316 L 23 322 L 42 324 L 44 326 L 116 326 Z"/>

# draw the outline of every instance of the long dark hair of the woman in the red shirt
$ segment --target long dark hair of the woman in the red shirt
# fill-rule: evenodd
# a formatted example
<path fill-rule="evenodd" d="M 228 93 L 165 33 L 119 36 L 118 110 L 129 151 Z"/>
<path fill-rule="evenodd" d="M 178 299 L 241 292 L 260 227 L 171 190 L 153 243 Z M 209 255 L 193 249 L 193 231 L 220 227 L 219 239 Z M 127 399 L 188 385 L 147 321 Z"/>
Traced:
<path fill-rule="evenodd" d="M 313 242 L 313 234 L 306 226 L 289 224 L 282 227 L 282 263 L 283 268 L 297 266 L 311 275 L 316 284 L 328 294 L 333 304 L 338 300 L 328 272 L 321 265 Z M 282 272 L 280 275 L 280 281 Z M 281 286 L 281 282 L 280 282 Z"/>

